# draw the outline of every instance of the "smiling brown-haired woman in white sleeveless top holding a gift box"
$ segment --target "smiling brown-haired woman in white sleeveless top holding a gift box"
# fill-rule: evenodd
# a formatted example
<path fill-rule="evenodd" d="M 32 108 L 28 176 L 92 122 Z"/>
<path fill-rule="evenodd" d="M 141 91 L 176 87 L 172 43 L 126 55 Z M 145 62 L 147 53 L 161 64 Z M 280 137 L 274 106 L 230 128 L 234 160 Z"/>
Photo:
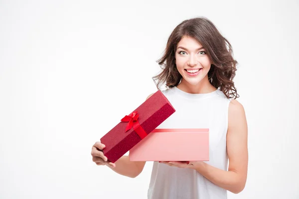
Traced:
<path fill-rule="evenodd" d="M 169 36 L 158 63 L 163 70 L 154 77 L 157 88 L 166 83 L 162 93 L 176 109 L 158 128 L 209 128 L 210 160 L 154 162 L 148 198 L 226 199 L 227 190 L 241 192 L 247 179 L 247 121 L 235 100 L 237 61 L 230 43 L 207 18 L 184 20 Z M 130 154 L 107 162 L 104 147 L 96 142 L 92 148 L 97 165 L 131 178 L 142 172 L 146 162 L 130 162 Z"/>

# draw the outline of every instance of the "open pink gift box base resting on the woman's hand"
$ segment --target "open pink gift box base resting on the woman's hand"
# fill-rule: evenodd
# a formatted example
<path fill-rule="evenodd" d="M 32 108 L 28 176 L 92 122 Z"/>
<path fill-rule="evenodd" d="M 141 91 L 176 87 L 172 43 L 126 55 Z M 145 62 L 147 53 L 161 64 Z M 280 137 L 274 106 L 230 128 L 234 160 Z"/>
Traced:
<path fill-rule="evenodd" d="M 130 161 L 209 161 L 209 129 L 154 129 L 130 150 Z"/>

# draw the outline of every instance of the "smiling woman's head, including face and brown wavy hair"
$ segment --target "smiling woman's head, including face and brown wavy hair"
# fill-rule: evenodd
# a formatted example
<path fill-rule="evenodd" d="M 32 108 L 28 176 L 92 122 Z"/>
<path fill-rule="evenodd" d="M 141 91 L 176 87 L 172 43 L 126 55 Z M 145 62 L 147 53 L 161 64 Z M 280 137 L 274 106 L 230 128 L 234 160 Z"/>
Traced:
<path fill-rule="evenodd" d="M 233 58 L 232 46 L 205 17 L 184 20 L 176 26 L 157 62 L 162 66 L 161 73 L 153 77 L 158 89 L 163 83 L 172 88 L 182 81 L 182 85 L 197 85 L 188 92 L 199 93 L 202 85 L 198 83 L 205 79 L 202 82 L 210 82 L 227 98 L 239 97 L 233 82 L 238 62 Z"/>

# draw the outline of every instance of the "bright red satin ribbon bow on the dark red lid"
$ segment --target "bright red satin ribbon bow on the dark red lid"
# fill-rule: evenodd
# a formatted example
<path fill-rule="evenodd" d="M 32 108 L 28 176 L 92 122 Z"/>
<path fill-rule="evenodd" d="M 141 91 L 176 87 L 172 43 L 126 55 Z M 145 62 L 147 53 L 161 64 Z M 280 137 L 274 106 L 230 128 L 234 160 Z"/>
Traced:
<path fill-rule="evenodd" d="M 138 121 L 139 113 L 137 111 L 132 112 L 130 115 L 126 115 L 121 121 L 129 122 L 125 132 L 130 130 L 132 127 L 135 132 L 139 135 L 141 139 L 145 138 L 148 134 L 146 131 L 141 127 Z"/>

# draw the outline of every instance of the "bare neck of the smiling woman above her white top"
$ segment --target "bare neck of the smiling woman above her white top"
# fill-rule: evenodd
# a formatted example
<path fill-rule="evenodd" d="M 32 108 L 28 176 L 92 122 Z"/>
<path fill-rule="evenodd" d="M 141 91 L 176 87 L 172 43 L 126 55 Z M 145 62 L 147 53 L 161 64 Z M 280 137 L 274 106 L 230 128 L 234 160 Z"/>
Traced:
<path fill-rule="evenodd" d="M 177 88 L 190 94 L 206 94 L 217 90 L 208 79 L 206 75 L 198 84 L 192 85 L 188 83 L 185 79 L 182 79 Z"/>

